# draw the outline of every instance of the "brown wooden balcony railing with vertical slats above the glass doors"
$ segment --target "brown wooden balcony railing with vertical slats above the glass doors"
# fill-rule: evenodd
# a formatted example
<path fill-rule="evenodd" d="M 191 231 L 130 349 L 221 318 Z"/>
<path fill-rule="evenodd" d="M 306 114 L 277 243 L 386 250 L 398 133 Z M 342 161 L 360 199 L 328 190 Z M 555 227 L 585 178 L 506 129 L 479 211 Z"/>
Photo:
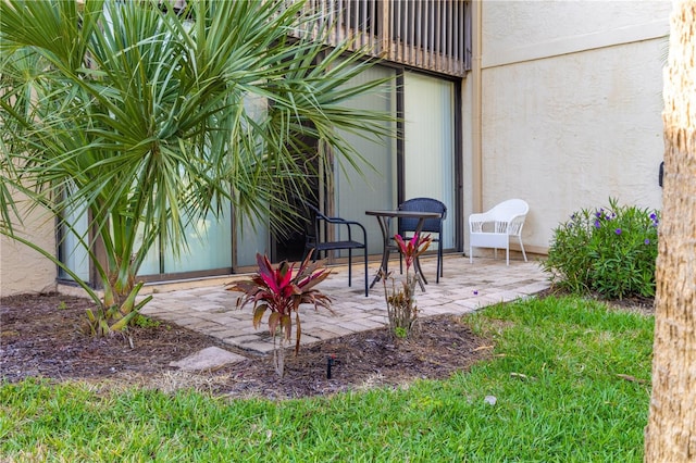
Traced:
<path fill-rule="evenodd" d="M 465 0 L 309 0 L 316 27 L 336 24 L 327 45 L 462 77 L 471 68 L 471 3 Z M 298 32 L 299 34 L 299 32 Z"/>

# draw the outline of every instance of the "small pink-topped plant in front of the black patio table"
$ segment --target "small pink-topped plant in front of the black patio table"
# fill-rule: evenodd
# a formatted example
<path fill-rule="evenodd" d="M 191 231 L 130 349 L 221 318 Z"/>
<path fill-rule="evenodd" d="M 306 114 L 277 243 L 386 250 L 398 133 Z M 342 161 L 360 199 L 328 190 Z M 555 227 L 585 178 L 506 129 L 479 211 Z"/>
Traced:
<path fill-rule="evenodd" d="M 418 320 L 418 306 L 415 305 L 415 285 L 420 279 L 418 272 L 411 273 L 411 267 L 415 260 L 427 250 L 433 242 L 431 236 L 421 237 L 413 235 L 410 240 L 405 240 L 401 235 L 395 235 L 397 248 L 406 261 L 406 279 L 400 281 L 399 287 L 389 275 L 383 275 L 384 297 L 387 302 L 387 314 L 389 316 L 389 328 L 391 333 L 400 338 L 410 335 Z M 390 285 L 387 285 L 387 279 Z"/>

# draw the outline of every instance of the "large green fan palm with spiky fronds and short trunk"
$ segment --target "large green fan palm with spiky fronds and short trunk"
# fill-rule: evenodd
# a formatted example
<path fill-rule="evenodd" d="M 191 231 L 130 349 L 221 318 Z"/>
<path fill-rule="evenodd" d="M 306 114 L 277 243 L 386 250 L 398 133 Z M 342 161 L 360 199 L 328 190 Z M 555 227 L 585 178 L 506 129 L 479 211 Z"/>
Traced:
<path fill-rule="evenodd" d="M 158 239 L 186 249 L 186 225 L 225 201 L 282 228 L 308 158 L 359 167 L 340 134 L 390 136 L 387 114 L 343 104 L 382 84 L 348 85 L 374 62 L 347 54 L 348 42 L 326 48 L 331 28 L 303 1 L 173 7 L 0 1 L 0 233 L 61 265 L 12 226 L 16 191 L 67 229 L 64 217 L 87 211 L 104 255 L 80 242 L 103 299 L 63 268 L 98 302 L 98 333 L 124 328 L 147 302 L 135 303 L 135 276 Z"/>

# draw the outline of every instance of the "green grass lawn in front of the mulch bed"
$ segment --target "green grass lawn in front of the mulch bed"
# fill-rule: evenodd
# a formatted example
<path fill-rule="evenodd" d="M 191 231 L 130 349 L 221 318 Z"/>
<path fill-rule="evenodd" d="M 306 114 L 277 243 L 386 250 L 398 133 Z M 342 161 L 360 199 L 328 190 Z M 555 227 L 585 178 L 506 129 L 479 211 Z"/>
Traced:
<path fill-rule="evenodd" d="M 652 317 L 580 298 L 464 318 L 494 359 L 448 380 L 284 402 L 0 386 L 10 461 L 641 462 Z M 486 401 L 488 397 L 488 401 Z M 495 404 L 490 398 L 495 398 Z M 1 459 L 0 459 L 1 460 Z"/>

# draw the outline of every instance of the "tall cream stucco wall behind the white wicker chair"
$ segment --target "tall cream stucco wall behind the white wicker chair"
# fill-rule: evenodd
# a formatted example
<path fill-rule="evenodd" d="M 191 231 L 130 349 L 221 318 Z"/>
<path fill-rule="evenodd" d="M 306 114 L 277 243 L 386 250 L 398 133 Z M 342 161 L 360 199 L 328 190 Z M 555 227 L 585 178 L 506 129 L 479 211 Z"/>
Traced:
<path fill-rule="evenodd" d="M 573 211 L 607 205 L 609 197 L 659 209 L 671 2 L 477 7 L 481 79 L 472 73 L 463 100 L 474 109 L 480 95 L 482 182 L 464 191 L 465 215 L 476 211 L 476 195 L 483 209 L 523 198 L 531 208 L 525 246 L 543 250 Z M 464 117 L 465 158 L 470 149 L 475 159 L 475 117 Z M 475 188 L 475 165 L 464 166 Z"/>

